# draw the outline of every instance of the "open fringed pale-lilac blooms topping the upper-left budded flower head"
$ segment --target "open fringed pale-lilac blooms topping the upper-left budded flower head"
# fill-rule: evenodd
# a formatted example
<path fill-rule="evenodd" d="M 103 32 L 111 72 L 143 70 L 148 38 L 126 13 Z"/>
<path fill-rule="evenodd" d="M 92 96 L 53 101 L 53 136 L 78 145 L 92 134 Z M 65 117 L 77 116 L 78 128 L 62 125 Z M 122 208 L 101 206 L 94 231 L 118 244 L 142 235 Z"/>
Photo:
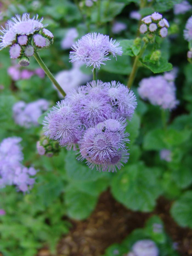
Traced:
<path fill-rule="evenodd" d="M 30 19 L 28 13 L 24 13 L 22 16 L 16 15 L 7 21 L 5 28 L 0 31 L 3 34 L 0 36 L 0 50 L 12 45 L 16 40 L 16 35 L 30 35 L 43 28 L 42 21 L 43 18 L 38 20 L 38 15 Z"/>

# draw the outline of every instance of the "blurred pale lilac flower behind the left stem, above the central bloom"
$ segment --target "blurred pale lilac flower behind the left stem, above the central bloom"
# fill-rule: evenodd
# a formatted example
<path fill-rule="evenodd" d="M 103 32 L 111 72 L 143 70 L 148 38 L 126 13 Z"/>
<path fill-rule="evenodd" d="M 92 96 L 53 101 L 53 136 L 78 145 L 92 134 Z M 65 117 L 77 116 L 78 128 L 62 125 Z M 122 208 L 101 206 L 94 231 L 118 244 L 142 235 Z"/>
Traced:
<path fill-rule="evenodd" d="M 72 88 L 76 88 L 77 86 L 86 83 L 91 79 L 90 75 L 86 75 L 80 70 L 80 65 L 77 63 L 73 64 L 74 65 L 72 69 L 60 71 L 55 75 L 55 79 L 65 93 L 69 92 Z M 63 95 L 59 91 L 58 95 L 60 98 L 63 98 Z"/>

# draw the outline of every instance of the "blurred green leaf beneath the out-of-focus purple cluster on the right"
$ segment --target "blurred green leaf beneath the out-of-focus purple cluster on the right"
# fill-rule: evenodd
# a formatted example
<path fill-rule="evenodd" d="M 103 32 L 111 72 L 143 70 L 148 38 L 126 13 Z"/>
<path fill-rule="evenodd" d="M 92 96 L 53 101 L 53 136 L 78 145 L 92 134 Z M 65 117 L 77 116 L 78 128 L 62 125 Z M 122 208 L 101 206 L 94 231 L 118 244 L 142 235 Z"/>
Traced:
<path fill-rule="evenodd" d="M 146 150 L 161 150 L 187 141 L 191 136 L 191 130 L 176 131 L 172 128 L 167 130 L 154 129 L 149 131 L 143 139 L 143 148 Z"/>

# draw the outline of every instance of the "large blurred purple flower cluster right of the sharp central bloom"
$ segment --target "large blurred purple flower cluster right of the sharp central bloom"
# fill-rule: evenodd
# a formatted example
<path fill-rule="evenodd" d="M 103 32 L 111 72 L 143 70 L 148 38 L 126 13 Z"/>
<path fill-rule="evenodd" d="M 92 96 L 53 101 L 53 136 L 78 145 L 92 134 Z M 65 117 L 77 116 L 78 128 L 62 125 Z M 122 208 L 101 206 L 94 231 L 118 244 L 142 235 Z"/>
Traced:
<path fill-rule="evenodd" d="M 173 73 L 167 72 L 164 76 L 143 78 L 138 88 L 140 97 L 163 109 L 175 108 L 179 102 L 176 100 L 175 75 Z"/>

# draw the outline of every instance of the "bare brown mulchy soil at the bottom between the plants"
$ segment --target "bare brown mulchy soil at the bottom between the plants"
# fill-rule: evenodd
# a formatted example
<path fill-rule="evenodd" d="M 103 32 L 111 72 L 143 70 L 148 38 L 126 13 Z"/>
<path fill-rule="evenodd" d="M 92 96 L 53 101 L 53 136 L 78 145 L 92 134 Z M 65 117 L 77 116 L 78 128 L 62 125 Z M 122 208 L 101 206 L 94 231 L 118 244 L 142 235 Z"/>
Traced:
<path fill-rule="evenodd" d="M 112 243 L 120 243 L 132 230 L 143 227 L 154 213 L 164 221 L 166 232 L 178 244 L 181 255 L 192 256 L 192 230 L 179 227 L 169 214 L 170 202 L 159 198 L 153 213 L 133 212 L 116 202 L 109 191 L 85 221 L 72 221 L 70 233 L 58 244 L 58 256 L 99 256 Z M 49 256 L 42 249 L 39 256 Z"/>

